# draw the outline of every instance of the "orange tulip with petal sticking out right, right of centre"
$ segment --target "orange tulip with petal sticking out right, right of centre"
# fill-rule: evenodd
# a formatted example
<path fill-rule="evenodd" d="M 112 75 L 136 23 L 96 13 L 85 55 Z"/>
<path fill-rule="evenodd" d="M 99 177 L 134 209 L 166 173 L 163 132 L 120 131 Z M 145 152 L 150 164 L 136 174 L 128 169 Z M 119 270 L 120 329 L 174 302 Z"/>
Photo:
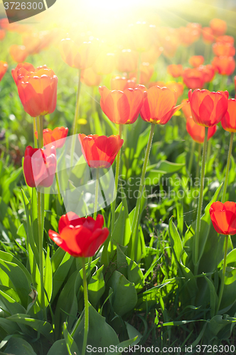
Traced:
<path fill-rule="evenodd" d="M 140 111 L 141 119 L 151 124 L 166 124 L 173 114 L 183 107 L 183 104 L 175 107 L 177 99 L 175 90 L 167 87 L 150 87 Z"/>

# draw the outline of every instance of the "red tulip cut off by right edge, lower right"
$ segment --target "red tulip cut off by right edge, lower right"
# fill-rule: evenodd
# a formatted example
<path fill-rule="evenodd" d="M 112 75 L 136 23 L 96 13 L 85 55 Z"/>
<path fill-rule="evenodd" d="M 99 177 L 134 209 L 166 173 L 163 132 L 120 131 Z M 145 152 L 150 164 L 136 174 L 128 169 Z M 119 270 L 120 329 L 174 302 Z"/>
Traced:
<path fill-rule="evenodd" d="M 210 206 L 210 219 L 219 234 L 233 236 L 236 234 L 236 203 L 227 201 L 213 202 Z"/>

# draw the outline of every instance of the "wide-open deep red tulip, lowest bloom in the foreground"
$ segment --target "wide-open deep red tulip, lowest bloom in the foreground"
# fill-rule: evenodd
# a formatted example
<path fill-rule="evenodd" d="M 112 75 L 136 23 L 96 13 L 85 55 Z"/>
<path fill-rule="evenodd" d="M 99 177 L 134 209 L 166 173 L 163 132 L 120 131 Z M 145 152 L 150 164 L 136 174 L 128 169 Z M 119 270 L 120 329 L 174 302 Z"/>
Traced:
<path fill-rule="evenodd" d="M 60 217 L 59 234 L 49 229 L 48 236 L 70 255 L 88 258 L 95 255 L 109 235 L 109 229 L 102 228 L 103 224 L 102 214 L 98 214 L 95 220 L 92 217 L 80 218 L 68 212 Z"/>

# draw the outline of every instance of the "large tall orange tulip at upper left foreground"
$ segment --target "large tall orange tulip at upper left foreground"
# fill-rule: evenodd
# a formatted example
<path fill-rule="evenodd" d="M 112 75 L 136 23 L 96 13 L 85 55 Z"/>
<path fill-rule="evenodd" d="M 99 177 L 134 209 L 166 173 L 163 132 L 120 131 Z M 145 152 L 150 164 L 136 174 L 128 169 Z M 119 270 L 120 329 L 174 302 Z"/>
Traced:
<path fill-rule="evenodd" d="M 58 77 L 45 65 L 35 72 L 18 70 L 17 88 L 23 109 L 32 117 L 51 114 L 57 102 Z"/>

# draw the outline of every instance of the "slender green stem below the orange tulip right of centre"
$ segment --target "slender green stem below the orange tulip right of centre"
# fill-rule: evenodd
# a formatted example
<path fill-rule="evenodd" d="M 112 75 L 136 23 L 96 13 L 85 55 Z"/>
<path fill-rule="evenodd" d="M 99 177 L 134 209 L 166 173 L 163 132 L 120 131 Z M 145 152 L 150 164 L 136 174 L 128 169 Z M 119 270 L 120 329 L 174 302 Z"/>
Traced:
<path fill-rule="evenodd" d="M 154 129 L 155 129 L 155 124 L 151 124 L 151 131 L 149 134 L 149 141 L 147 143 L 146 146 L 146 153 L 145 153 L 145 158 L 144 158 L 144 165 L 143 165 L 143 169 L 141 171 L 141 182 L 139 185 L 139 194 L 138 194 L 138 198 L 136 200 L 136 207 L 135 207 L 135 213 L 134 213 L 134 219 L 133 219 L 133 223 L 132 223 L 132 240 L 135 241 L 135 245 L 132 246 L 132 249 L 134 248 L 134 260 L 136 261 L 137 258 L 137 241 L 136 241 L 136 231 L 138 228 L 138 221 L 139 221 L 139 209 L 140 209 L 140 205 L 141 205 L 141 197 L 143 195 L 143 190 L 144 190 L 144 181 L 145 181 L 145 174 L 146 174 L 146 167 L 149 161 L 149 154 L 151 151 L 151 142 L 152 142 L 152 138 L 154 136 Z"/>

